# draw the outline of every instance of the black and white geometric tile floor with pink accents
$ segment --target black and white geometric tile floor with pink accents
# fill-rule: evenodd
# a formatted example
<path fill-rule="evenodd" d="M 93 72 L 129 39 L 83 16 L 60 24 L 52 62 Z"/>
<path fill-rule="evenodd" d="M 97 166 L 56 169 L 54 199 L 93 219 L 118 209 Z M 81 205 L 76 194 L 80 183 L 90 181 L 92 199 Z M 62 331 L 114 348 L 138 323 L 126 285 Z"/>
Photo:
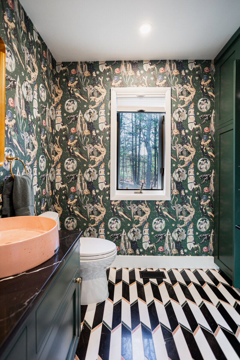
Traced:
<path fill-rule="evenodd" d="M 222 271 L 140 270 L 108 269 L 109 298 L 81 306 L 76 359 L 240 359 L 240 294 Z"/>

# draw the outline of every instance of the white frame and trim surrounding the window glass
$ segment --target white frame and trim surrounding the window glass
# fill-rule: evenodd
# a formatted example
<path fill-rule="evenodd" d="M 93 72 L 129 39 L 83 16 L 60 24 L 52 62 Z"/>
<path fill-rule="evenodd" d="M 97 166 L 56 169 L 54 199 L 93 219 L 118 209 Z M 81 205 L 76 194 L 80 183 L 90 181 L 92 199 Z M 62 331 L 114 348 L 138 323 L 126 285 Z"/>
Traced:
<path fill-rule="evenodd" d="M 164 176 L 163 190 L 117 190 L 117 111 L 129 111 L 129 108 L 119 109 L 119 97 L 152 96 L 165 98 L 165 107 L 154 108 L 154 111 L 165 112 L 164 139 Z M 136 111 L 131 108 L 130 111 Z M 111 88 L 111 146 L 110 146 L 110 200 L 170 200 L 171 199 L 171 87 L 112 87 Z"/>

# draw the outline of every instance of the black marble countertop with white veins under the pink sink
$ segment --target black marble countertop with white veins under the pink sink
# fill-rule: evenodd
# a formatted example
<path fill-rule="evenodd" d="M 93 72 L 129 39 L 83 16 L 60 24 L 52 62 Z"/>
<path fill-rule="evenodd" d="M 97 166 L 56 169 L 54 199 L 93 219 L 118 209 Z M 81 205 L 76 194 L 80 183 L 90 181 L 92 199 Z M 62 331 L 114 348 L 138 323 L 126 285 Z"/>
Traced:
<path fill-rule="evenodd" d="M 59 250 L 43 264 L 24 273 L 0 279 L 0 348 L 30 313 L 33 305 L 65 262 L 64 257 L 81 231 L 59 231 Z"/>

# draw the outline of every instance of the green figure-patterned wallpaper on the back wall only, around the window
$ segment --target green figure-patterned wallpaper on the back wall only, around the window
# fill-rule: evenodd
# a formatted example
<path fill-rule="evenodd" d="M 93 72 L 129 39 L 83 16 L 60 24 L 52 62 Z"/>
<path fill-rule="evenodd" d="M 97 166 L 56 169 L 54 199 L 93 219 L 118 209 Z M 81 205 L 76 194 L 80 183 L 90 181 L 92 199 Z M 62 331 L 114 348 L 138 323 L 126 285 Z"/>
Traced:
<path fill-rule="evenodd" d="M 62 228 L 112 240 L 118 255 L 212 255 L 213 63 L 74 62 L 57 63 L 56 72 L 53 174 Z M 172 88 L 171 201 L 109 198 L 110 88 L 128 86 Z"/>

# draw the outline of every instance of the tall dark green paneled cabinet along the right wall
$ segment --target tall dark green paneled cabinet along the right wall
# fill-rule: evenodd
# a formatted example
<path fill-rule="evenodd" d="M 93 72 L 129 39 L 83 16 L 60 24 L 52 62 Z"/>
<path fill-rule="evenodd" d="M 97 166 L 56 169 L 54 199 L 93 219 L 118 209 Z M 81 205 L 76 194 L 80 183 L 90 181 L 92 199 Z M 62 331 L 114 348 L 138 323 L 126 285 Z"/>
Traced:
<path fill-rule="evenodd" d="M 214 261 L 240 287 L 240 28 L 214 59 Z"/>

